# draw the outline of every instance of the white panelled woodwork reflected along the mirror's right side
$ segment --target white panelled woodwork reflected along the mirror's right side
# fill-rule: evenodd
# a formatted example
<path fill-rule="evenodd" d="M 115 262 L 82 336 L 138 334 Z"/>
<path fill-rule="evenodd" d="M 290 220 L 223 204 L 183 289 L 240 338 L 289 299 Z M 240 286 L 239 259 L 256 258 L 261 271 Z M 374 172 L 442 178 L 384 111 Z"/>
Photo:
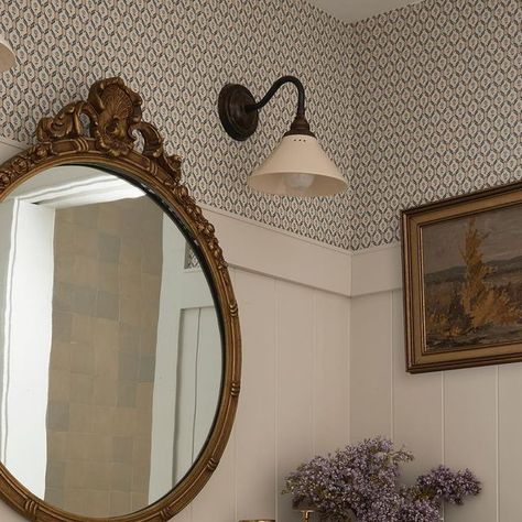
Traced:
<path fill-rule="evenodd" d="M 202 270 L 185 269 L 185 238 L 164 216 L 151 502 L 171 490 L 199 454 L 214 421 L 221 381 L 221 341 L 213 296 Z"/>

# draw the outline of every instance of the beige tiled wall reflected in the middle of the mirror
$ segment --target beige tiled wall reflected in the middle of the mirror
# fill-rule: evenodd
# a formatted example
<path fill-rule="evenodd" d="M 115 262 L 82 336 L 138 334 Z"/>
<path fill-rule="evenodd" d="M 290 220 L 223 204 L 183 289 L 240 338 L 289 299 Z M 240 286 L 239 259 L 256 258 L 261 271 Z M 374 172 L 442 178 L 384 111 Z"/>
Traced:
<path fill-rule="evenodd" d="M 162 211 L 58 209 L 46 500 L 90 516 L 148 504 Z"/>

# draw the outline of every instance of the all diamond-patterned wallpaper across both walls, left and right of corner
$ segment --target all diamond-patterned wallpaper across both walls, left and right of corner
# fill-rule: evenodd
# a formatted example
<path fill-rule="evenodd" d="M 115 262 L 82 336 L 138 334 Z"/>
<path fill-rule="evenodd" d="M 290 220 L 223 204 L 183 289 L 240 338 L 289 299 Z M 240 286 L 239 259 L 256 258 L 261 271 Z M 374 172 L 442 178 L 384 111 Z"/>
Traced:
<path fill-rule="evenodd" d="M 341 248 L 399 238 L 399 210 L 522 177 L 522 2 L 424 0 L 352 25 L 305 0 L 0 0 L 19 63 L 0 83 L 2 135 L 121 75 L 185 157 L 205 204 Z M 287 86 L 244 143 L 216 98 L 300 76 L 308 116 L 349 178 L 335 198 L 252 193 L 246 177 L 292 120 Z"/>

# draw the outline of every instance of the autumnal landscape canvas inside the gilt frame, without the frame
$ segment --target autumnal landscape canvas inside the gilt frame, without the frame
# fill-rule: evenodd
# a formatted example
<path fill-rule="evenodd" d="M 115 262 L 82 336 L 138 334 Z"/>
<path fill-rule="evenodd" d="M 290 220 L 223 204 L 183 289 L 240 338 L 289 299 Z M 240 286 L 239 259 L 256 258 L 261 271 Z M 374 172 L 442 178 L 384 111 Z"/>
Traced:
<path fill-rule="evenodd" d="M 426 349 L 522 342 L 522 205 L 423 227 Z"/>

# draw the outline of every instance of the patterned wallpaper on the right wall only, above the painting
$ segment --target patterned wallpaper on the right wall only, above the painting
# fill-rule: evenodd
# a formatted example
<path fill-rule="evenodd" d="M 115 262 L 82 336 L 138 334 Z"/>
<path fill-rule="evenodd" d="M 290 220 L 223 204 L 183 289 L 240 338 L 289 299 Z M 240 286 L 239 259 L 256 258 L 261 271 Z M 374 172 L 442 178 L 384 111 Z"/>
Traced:
<path fill-rule="evenodd" d="M 522 178 L 522 1 L 425 0 L 351 25 L 352 240 L 399 209 Z"/>

